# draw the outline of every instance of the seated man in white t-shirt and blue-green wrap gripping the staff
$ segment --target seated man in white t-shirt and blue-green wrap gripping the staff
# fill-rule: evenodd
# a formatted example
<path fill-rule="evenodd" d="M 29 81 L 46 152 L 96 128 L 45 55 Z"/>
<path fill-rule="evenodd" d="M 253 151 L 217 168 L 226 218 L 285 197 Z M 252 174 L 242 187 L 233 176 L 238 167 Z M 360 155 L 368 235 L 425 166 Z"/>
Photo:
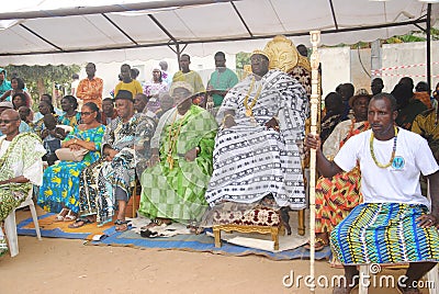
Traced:
<path fill-rule="evenodd" d="M 393 95 L 373 97 L 368 110 L 371 129 L 351 137 L 334 161 L 323 155 L 318 136 L 306 137 L 306 146 L 317 150 L 324 177 L 360 162 L 363 203 L 330 235 L 348 282 L 333 293 L 350 293 L 359 282 L 357 264 L 401 262 L 409 262 L 409 268 L 398 289 L 420 293 L 417 281 L 439 261 L 439 166 L 423 137 L 394 126 L 396 116 Z M 431 205 L 420 193 L 420 173 L 429 179 Z"/>

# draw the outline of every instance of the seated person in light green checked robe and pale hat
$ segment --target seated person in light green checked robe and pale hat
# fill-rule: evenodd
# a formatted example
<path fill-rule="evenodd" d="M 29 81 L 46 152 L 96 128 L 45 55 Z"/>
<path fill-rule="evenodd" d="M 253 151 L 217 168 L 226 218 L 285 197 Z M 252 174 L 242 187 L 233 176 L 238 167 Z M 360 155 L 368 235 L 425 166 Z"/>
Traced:
<path fill-rule="evenodd" d="M 172 220 L 192 224 L 207 207 L 204 192 L 212 174 L 217 124 L 207 111 L 192 104 L 192 94 L 189 83 L 172 83 L 177 106 L 160 117 L 151 139 L 138 210 L 153 219 L 146 228 Z"/>

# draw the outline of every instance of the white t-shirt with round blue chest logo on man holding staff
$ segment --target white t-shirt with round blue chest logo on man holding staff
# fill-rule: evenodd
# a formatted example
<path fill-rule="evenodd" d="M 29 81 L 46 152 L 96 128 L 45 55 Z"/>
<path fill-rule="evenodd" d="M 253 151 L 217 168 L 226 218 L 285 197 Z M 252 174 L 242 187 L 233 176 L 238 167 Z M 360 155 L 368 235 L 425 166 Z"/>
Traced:
<path fill-rule="evenodd" d="M 371 129 L 351 137 L 341 147 L 334 161 L 345 171 L 356 167 L 361 170 L 361 193 L 364 203 L 424 204 L 430 208 L 419 186 L 419 174 L 432 174 L 439 170 L 427 140 L 418 134 L 398 128 L 396 154 L 389 168 L 379 168 L 370 150 Z M 394 139 L 373 139 L 373 151 L 381 165 L 392 156 Z"/>

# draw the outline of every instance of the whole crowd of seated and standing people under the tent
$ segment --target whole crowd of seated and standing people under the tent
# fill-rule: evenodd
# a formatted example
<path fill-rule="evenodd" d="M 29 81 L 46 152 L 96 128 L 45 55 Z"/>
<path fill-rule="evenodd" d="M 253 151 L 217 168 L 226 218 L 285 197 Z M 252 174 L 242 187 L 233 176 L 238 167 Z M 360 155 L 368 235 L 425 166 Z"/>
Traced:
<path fill-rule="evenodd" d="M 70 228 L 114 222 L 117 231 L 130 229 L 125 207 L 136 181 L 138 213 L 151 220 L 144 231 L 178 222 L 200 233 L 227 203 L 300 210 L 303 155 L 314 148 L 315 250 L 330 245 L 352 282 L 335 293 L 350 292 L 356 264 L 409 262 L 408 282 L 436 264 L 439 83 L 431 97 L 408 77 L 391 93 L 381 78 L 371 94 L 340 83 L 325 98 L 319 135 L 306 135 L 308 94 L 288 72 L 269 69 L 269 54 L 255 50 L 240 81 L 224 53 L 214 58 L 205 86 L 187 54 L 173 77 L 161 61 L 145 84 L 124 64 L 114 98 L 105 99 L 89 63 L 61 110 L 44 94 L 37 113 L 24 81 L 9 82 L 0 68 L 0 223 L 33 185 L 37 204 Z M 64 159 L 76 151 L 79 159 Z M 401 291 L 419 293 L 412 284 Z"/>

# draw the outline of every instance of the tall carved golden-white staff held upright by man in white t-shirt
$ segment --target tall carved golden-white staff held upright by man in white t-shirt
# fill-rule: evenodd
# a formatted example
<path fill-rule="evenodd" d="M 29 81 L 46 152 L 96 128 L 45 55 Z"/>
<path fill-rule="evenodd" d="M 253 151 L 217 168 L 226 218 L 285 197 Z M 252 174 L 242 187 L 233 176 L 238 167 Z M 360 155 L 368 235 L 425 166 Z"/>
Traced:
<path fill-rule="evenodd" d="M 318 64 L 319 56 L 317 45 L 320 42 L 320 31 L 311 31 L 311 44 L 313 44 L 313 54 L 311 55 L 311 134 L 317 134 L 317 117 L 319 111 L 319 91 L 318 91 Z M 311 292 L 315 291 L 315 182 L 316 182 L 316 150 L 309 150 L 309 275 L 313 279 Z"/>

